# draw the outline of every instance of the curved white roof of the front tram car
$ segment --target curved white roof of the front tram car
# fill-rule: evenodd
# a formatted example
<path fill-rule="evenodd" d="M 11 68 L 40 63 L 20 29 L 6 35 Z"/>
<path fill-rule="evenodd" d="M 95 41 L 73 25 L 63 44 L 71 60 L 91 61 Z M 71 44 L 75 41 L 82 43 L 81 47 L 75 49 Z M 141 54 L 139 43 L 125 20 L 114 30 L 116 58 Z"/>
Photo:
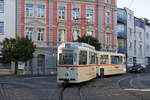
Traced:
<path fill-rule="evenodd" d="M 73 48 L 73 49 L 86 49 L 86 50 L 95 50 L 95 47 L 80 42 L 66 42 L 62 43 L 58 48 Z"/>

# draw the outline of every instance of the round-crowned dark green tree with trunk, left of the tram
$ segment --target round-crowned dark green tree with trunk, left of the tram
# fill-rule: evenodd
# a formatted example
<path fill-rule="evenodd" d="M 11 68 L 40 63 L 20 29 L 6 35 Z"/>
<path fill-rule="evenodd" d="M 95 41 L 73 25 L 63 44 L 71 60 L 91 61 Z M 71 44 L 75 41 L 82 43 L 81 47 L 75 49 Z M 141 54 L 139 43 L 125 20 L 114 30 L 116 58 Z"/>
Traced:
<path fill-rule="evenodd" d="M 18 61 L 26 62 L 33 57 L 35 45 L 26 38 L 6 38 L 3 43 L 2 56 L 4 62 L 15 62 L 15 74 L 17 74 Z"/>

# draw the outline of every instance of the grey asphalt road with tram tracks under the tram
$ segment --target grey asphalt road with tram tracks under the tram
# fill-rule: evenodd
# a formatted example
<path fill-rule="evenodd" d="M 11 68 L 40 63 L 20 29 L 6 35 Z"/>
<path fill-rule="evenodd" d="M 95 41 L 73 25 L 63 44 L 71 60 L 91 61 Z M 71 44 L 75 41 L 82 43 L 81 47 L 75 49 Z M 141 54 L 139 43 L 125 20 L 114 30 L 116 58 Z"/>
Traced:
<path fill-rule="evenodd" d="M 65 88 L 56 76 L 1 77 L 0 100 L 150 100 L 150 73 L 96 78 Z"/>

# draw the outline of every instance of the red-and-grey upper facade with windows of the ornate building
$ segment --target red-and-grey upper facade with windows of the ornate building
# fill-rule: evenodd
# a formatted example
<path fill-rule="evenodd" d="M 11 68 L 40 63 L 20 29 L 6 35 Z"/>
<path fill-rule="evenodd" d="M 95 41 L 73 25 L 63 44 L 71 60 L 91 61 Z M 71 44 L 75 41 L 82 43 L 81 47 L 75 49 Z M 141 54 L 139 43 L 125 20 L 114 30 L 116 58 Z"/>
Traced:
<path fill-rule="evenodd" d="M 30 37 L 37 47 L 91 35 L 103 50 L 116 49 L 116 0 L 18 0 L 17 5 L 17 35 Z"/>

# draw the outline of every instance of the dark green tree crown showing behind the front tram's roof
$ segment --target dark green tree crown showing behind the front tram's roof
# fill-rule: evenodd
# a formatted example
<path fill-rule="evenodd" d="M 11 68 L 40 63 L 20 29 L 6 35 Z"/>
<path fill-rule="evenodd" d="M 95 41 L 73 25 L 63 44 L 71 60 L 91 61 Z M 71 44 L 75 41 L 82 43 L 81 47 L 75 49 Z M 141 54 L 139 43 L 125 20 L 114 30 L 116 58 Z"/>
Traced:
<path fill-rule="evenodd" d="M 96 50 L 100 51 L 101 50 L 101 44 L 97 39 L 95 39 L 93 36 L 83 36 L 83 37 L 78 37 L 78 39 L 74 42 L 83 42 L 90 44 L 95 47 Z"/>

